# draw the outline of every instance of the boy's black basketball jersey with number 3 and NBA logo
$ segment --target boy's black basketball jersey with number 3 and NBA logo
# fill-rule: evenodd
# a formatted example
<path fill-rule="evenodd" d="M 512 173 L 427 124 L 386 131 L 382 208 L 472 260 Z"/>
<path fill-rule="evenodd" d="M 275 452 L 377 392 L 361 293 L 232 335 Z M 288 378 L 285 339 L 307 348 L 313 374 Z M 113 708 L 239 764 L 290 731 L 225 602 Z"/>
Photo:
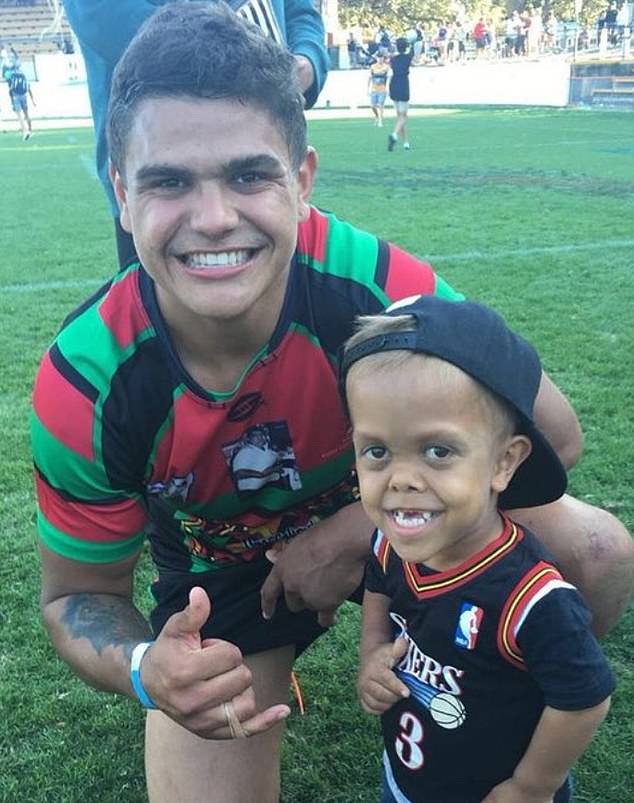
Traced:
<path fill-rule="evenodd" d="M 382 717 L 398 801 L 480 803 L 513 774 L 545 705 L 597 705 L 614 678 L 590 613 L 537 539 L 509 519 L 468 561 L 438 572 L 402 561 L 381 532 L 366 577 L 391 599 L 395 667 L 410 689 Z"/>

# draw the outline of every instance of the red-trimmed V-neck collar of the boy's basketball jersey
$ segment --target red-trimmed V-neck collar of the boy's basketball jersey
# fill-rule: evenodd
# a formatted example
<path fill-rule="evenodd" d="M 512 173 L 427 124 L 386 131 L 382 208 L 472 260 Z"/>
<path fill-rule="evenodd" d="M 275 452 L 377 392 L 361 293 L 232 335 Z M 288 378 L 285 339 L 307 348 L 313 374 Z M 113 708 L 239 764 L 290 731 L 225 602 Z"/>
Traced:
<path fill-rule="evenodd" d="M 502 518 L 504 519 L 504 529 L 501 535 L 495 541 L 487 544 L 480 552 L 461 563 L 460 566 L 429 575 L 421 574 L 415 563 L 403 561 L 405 578 L 414 595 L 418 599 L 430 599 L 447 591 L 453 591 L 465 583 L 471 582 L 489 566 L 505 557 L 524 538 L 524 533 L 503 514 Z"/>

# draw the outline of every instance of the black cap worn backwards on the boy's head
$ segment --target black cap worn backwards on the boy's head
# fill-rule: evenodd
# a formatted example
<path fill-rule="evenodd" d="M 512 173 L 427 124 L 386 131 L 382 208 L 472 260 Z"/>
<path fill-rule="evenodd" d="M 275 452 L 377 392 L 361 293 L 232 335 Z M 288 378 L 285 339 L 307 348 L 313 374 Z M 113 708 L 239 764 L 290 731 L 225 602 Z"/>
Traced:
<path fill-rule="evenodd" d="M 535 349 L 512 332 L 492 309 L 471 301 L 415 296 L 393 304 L 389 316 L 413 315 L 415 331 L 391 332 L 339 354 L 339 388 L 345 401 L 348 371 L 358 360 L 382 351 L 412 351 L 446 360 L 507 401 L 518 417 L 518 433 L 530 438 L 530 455 L 498 499 L 503 509 L 535 507 L 565 492 L 566 471 L 535 426 L 533 404 L 542 369 Z"/>

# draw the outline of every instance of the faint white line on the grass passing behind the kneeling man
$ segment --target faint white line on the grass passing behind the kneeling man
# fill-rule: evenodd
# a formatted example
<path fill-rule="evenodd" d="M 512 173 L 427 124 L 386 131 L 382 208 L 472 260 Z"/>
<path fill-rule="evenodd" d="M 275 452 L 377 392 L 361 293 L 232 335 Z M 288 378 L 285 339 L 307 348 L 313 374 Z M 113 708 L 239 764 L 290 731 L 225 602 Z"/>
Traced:
<path fill-rule="evenodd" d="M 530 257 L 540 254 L 578 254 L 584 251 L 609 251 L 612 248 L 633 248 L 634 240 L 599 240 L 594 243 L 579 243 L 568 245 L 540 246 L 537 248 L 513 248 L 506 251 L 463 251 L 459 254 L 430 254 L 423 257 L 435 263 L 465 262 L 467 260 L 480 260 L 482 262 L 498 262 L 509 257 Z M 25 282 L 23 284 L 0 285 L 0 295 L 41 293 L 46 290 L 66 290 L 74 288 L 99 287 L 107 279 L 66 279 L 51 282 Z"/>

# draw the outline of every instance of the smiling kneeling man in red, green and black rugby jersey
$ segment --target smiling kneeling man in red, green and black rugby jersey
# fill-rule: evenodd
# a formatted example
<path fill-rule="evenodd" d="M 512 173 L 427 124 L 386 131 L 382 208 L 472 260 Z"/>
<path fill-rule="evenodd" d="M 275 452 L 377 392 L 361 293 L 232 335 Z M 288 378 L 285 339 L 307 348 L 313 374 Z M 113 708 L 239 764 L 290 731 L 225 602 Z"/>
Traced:
<path fill-rule="evenodd" d="M 358 588 L 370 550 L 336 351 L 357 314 L 412 293 L 460 297 L 309 205 L 303 105 L 293 57 L 222 4 L 169 4 L 148 21 L 108 115 L 140 264 L 68 318 L 36 382 L 44 620 L 87 682 L 160 709 L 147 717 L 152 803 L 278 799 L 294 657 Z M 537 415 L 573 462 L 576 419 L 546 377 Z M 256 429 L 284 469 L 252 461 L 262 483 L 242 459 Z M 606 627 L 629 591 L 630 542 L 579 506 L 540 509 L 534 529 Z M 146 536 L 152 628 L 132 604 Z"/>

